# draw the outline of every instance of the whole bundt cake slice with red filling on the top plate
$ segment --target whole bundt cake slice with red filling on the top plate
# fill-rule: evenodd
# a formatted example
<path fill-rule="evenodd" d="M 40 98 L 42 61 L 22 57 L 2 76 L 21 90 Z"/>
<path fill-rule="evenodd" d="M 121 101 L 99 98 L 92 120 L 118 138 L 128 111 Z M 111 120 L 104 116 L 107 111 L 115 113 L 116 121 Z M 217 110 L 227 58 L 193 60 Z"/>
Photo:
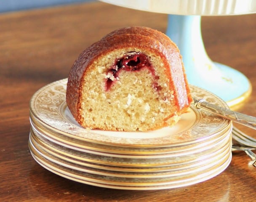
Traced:
<path fill-rule="evenodd" d="M 80 125 L 115 131 L 172 126 L 192 101 L 179 49 L 147 27 L 117 29 L 85 49 L 66 98 Z"/>

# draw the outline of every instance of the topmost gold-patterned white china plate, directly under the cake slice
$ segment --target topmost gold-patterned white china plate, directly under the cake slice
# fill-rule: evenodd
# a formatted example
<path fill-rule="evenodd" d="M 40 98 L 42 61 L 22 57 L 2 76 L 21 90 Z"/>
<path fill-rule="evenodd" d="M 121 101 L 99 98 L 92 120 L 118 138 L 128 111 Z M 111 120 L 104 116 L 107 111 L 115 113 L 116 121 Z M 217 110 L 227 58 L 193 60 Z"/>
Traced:
<path fill-rule="evenodd" d="M 211 138 L 232 124 L 191 105 L 173 127 L 149 132 L 86 130 L 74 120 L 67 107 L 66 86 L 67 79 L 63 79 L 39 89 L 30 100 L 30 112 L 46 128 L 86 142 L 133 147 L 180 146 Z M 227 107 L 216 95 L 195 86 L 190 88 L 193 97 L 204 98 L 212 104 Z"/>

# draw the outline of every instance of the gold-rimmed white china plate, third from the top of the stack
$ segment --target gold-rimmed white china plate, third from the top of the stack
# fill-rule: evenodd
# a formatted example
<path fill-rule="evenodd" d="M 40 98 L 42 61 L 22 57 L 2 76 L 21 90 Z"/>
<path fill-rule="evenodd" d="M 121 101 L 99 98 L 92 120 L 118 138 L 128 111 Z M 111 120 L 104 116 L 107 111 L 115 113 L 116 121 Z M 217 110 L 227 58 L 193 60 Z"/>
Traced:
<path fill-rule="evenodd" d="M 61 141 L 61 135 L 59 134 L 47 134 L 43 131 L 38 130 L 35 125 L 31 124 L 32 126 L 32 134 L 37 137 L 38 141 L 44 142 L 44 144 L 54 144 L 56 146 L 62 146 L 63 148 L 71 149 L 74 151 L 80 151 L 82 153 L 88 153 L 88 154 L 97 154 L 101 156 L 107 156 L 107 157 L 120 157 L 120 158 L 136 158 L 136 159 L 150 159 L 150 158 L 179 158 L 186 156 L 187 159 L 189 156 L 197 157 L 198 155 L 201 155 L 201 153 L 207 153 L 208 151 L 214 152 L 219 149 L 219 146 L 221 146 L 221 142 L 224 143 L 224 139 L 227 139 L 227 136 L 230 135 L 232 128 L 228 128 L 226 132 L 223 132 L 219 134 L 219 136 L 216 136 L 215 138 L 209 139 L 208 141 L 203 142 L 200 146 L 198 144 L 190 145 L 189 149 L 184 149 L 183 146 L 181 147 L 175 147 L 175 149 L 172 149 L 169 152 L 165 153 L 153 153 L 154 148 L 150 148 L 149 152 L 148 150 L 142 150 L 142 151 L 136 151 L 136 153 L 128 154 L 128 149 L 126 148 L 125 152 L 121 149 L 117 150 L 117 152 L 109 152 L 102 151 L 101 147 L 97 148 L 81 148 L 77 147 L 75 144 L 70 144 L 69 141 Z M 56 136 L 58 136 L 56 138 Z M 81 143 L 82 144 L 82 143 Z M 86 146 L 86 142 L 84 143 Z M 60 148 L 59 148 L 60 149 Z"/>

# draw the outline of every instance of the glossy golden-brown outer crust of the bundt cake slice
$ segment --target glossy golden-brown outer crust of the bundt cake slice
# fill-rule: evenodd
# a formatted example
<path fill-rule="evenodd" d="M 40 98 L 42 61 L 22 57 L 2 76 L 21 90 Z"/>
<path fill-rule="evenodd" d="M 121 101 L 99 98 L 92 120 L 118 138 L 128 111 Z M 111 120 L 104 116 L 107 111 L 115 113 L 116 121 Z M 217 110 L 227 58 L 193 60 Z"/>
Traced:
<path fill-rule="evenodd" d="M 86 76 L 90 69 L 90 65 L 101 55 L 110 53 L 113 50 L 127 47 L 143 48 L 161 55 L 165 58 L 164 66 L 166 74 L 170 77 L 170 87 L 175 87 L 176 105 L 182 111 L 187 109 L 192 98 L 189 94 L 189 87 L 186 77 L 180 78 L 183 75 L 184 66 L 181 61 L 181 56 L 178 47 L 162 32 L 147 27 L 126 27 L 117 29 L 90 47 L 85 49 L 73 64 L 67 83 L 67 106 L 75 117 L 75 120 L 82 122 L 83 117 L 80 116 L 81 108 L 80 96 L 83 85 L 82 78 Z M 181 61 L 177 64 L 176 61 Z M 176 73 L 171 73 L 176 72 Z M 185 85 L 184 85 L 185 83 Z"/>

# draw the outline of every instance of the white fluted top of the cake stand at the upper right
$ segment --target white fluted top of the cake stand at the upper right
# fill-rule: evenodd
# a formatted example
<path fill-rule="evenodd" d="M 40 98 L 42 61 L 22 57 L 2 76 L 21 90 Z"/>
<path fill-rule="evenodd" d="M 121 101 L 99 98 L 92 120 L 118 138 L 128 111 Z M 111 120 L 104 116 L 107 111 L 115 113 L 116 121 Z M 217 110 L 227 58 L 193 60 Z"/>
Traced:
<path fill-rule="evenodd" d="M 256 13 L 256 0 L 101 0 L 141 11 L 175 15 L 241 15 Z"/>

